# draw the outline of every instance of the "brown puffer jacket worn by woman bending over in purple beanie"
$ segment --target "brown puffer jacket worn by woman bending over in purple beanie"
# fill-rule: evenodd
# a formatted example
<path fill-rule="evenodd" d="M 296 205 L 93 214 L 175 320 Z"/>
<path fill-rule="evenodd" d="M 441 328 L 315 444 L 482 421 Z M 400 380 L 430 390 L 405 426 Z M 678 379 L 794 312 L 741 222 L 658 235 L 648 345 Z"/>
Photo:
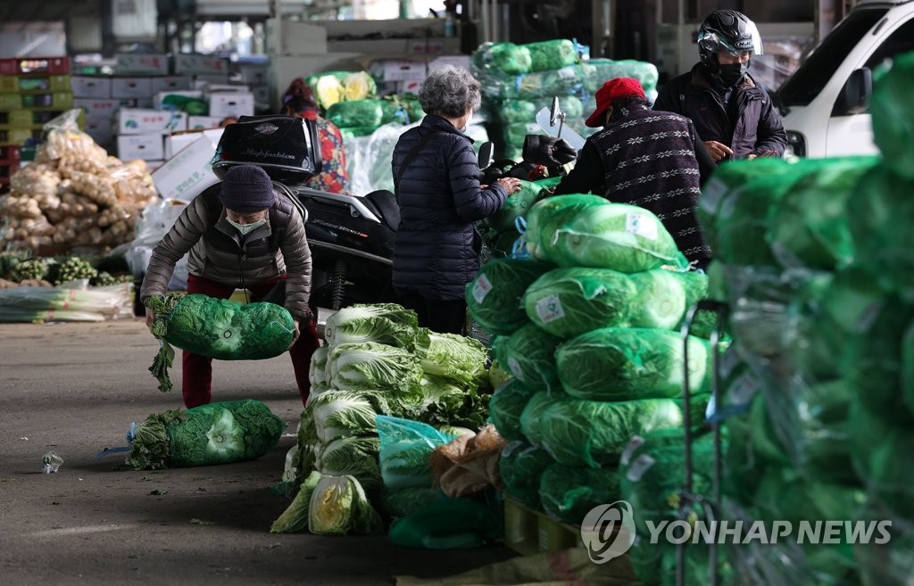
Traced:
<path fill-rule="evenodd" d="M 311 249 L 302 216 L 285 195 L 277 194 L 267 224 L 242 236 L 228 224 L 218 189 L 219 183 L 197 195 L 155 246 L 141 300 L 165 295 L 175 264 L 189 251 L 190 274 L 235 288 L 286 273 L 285 308 L 296 319 L 305 319 L 311 294 Z"/>

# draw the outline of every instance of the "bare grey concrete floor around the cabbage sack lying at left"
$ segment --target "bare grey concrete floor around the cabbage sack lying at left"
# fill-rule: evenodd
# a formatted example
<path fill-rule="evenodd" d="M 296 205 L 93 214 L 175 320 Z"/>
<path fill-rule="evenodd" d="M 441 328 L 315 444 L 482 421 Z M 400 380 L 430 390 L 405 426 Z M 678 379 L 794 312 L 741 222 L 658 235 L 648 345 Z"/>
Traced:
<path fill-rule="evenodd" d="M 271 534 L 271 495 L 302 411 L 287 356 L 216 362 L 213 399 L 267 403 L 289 422 L 271 453 L 227 466 L 118 471 L 131 422 L 183 407 L 146 371 L 143 320 L 0 325 L 0 584 L 390 584 L 441 577 L 513 554 L 400 549 L 384 538 Z M 178 360 L 179 361 L 179 360 Z M 63 458 L 42 474 L 42 455 Z"/>

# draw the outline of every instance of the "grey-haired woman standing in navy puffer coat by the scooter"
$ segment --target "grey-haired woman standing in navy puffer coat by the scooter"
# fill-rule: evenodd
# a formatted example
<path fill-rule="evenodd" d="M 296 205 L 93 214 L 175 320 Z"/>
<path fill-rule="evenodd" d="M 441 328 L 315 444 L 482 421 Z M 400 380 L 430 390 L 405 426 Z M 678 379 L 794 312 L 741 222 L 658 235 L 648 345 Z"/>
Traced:
<path fill-rule="evenodd" d="M 520 181 L 479 183 L 473 140 L 463 134 L 480 106 L 479 81 L 468 71 L 432 70 L 419 103 L 427 116 L 400 136 L 392 160 L 400 210 L 393 285 L 399 303 L 419 315 L 420 326 L 462 334 L 464 290 L 479 270 L 482 250 L 474 223 L 501 209 Z"/>

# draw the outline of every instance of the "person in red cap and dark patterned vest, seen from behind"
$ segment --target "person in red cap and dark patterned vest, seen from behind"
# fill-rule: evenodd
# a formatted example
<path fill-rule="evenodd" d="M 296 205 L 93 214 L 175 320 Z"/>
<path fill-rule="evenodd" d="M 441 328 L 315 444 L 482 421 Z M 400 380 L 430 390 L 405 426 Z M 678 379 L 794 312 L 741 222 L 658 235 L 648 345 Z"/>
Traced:
<path fill-rule="evenodd" d="M 706 267 L 711 249 L 695 208 L 701 176 L 715 164 L 691 120 L 651 110 L 637 79 L 610 79 L 596 99 L 597 108 L 585 124 L 603 130 L 584 143 L 574 169 L 554 194 L 599 194 L 650 210 L 683 255 L 696 267 Z"/>

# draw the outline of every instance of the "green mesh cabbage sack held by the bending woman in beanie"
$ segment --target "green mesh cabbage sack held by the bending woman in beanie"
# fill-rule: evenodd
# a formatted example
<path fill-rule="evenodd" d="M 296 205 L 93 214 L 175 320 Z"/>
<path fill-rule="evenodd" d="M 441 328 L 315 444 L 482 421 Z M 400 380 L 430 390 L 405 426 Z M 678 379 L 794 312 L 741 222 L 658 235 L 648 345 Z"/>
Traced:
<path fill-rule="evenodd" d="M 287 351 L 295 334 L 292 314 L 275 303 L 169 293 L 146 299 L 146 307 L 155 312 L 150 330 L 160 346 L 149 371 L 162 392 L 172 389 L 172 346 L 220 361 L 257 361 Z"/>

